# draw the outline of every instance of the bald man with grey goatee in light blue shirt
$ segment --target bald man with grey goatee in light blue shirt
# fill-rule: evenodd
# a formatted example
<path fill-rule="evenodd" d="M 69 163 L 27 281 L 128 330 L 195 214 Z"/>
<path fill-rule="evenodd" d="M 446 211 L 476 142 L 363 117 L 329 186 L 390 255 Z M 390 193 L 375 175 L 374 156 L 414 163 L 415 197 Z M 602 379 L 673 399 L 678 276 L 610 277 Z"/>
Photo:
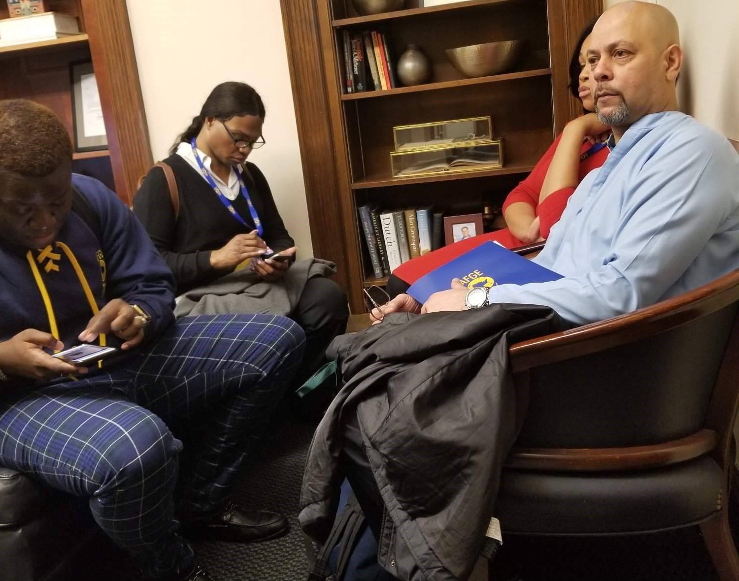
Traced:
<path fill-rule="evenodd" d="M 385 314 L 532 303 L 584 324 L 739 268 L 739 157 L 723 136 L 678 111 L 675 17 L 658 4 L 617 4 L 593 28 L 587 58 L 596 112 L 613 128 L 612 152 L 576 189 L 534 258 L 564 278 L 476 290 L 487 293 L 476 300 L 455 280 L 423 306 L 398 295 Z"/>

